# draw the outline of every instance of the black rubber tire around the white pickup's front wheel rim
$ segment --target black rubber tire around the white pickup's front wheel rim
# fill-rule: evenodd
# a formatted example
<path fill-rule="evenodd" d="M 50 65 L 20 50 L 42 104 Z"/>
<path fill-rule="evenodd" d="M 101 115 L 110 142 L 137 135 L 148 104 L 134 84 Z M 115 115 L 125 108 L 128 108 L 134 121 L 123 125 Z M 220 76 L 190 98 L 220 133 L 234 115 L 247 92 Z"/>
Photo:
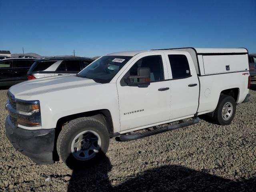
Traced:
<path fill-rule="evenodd" d="M 91 130 L 92 132 L 98 134 L 101 140 L 100 150 L 96 155 L 88 160 L 78 160 L 74 157 L 71 152 L 72 141 L 78 134 L 84 131 Z M 84 136 L 82 136 L 84 137 Z M 70 168 L 76 168 L 78 166 L 84 166 L 85 164 L 91 164 L 96 162 L 100 156 L 105 154 L 108 150 L 109 145 L 109 134 L 106 126 L 100 121 L 89 118 L 82 117 L 71 120 L 68 124 L 64 125 L 62 128 L 58 139 L 57 139 L 57 152 L 60 159 Z M 91 144 L 90 144 L 91 145 Z"/>

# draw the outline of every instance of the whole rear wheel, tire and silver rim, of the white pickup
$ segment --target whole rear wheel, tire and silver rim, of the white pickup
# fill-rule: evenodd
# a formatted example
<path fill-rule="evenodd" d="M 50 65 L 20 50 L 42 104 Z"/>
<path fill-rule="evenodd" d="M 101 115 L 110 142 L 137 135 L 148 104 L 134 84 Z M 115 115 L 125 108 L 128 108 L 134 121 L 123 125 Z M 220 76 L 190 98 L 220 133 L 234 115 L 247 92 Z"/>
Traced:
<path fill-rule="evenodd" d="M 221 94 L 213 118 L 219 125 L 228 125 L 236 113 L 236 102 L 232 96 Z"/>

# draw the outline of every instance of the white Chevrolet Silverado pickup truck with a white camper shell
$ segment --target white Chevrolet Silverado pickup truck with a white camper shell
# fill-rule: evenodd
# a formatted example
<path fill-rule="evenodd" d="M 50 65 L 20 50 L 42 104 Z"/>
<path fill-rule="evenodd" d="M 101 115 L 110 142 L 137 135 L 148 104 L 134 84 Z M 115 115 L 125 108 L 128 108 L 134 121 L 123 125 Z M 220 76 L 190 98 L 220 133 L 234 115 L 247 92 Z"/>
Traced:
<path fill-rule="evenodd" d="M 6 135 L 38 164 L 59 158 L 68 165 L 88 163 L 116 136 L 143 138 L 196 124 L 201 114 L 230 124 L 236 104 L 250 96 L 249 76 L 245 48 L 107 54 L 76 76 L 12 86 Z"/>

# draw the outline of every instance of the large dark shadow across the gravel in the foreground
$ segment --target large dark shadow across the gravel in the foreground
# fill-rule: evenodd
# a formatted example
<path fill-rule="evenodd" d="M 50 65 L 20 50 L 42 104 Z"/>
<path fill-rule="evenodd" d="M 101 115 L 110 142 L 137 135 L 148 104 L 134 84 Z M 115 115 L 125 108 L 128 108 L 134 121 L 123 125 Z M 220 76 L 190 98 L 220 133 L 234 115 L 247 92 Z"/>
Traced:
<path fill-rule="evenodd" d="M 112 165 L 106 156 L 86 168 L 74 169 L 68 192 L 256 191 L 256 178 L 228 180 L 208 174 L 208 170 L 196 171 L 176 165 L 146 170 L 137 176 L 130 176 L 122 184 L 113 185 L 119 178 L 110 180 L 108 173 L 111 170 Z"/>

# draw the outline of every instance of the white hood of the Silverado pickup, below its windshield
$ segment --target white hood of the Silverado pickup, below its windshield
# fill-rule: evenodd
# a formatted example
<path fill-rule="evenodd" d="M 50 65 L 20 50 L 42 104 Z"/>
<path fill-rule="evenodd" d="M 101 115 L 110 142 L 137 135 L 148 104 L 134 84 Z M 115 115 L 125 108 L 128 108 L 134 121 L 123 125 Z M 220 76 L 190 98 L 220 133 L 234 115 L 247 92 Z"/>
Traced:
<path fill-rule="evenodd" d="M 12 86 L 9 90 L 15 98 L 28 100 L 33 95 L 97 84 L 100 83 L 92 79 L 64 75 L 28 80 Z"/>

